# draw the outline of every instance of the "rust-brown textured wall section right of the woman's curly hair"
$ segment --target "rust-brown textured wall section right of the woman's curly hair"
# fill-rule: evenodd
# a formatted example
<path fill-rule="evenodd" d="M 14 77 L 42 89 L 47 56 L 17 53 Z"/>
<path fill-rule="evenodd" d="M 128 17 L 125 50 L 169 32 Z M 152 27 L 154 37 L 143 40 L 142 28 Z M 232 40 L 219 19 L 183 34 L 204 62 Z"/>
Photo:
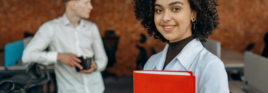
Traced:
<path fill-rule="evenodd" d="M 268 0 L 219 0 L 219 4 L 219 30 L 211 38 L 241 53 L 253 42 L 253 52 L 261 54 L 268 32 Z"/>

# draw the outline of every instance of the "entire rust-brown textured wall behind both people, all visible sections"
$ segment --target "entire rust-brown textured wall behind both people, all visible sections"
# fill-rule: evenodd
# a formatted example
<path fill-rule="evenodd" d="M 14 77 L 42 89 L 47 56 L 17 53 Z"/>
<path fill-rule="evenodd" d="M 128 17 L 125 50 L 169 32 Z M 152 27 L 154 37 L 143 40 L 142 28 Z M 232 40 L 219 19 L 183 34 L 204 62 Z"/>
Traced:
<path fill-rule="evenodd" d="M 115 30 L 120 37 L 116 64 L 109 68 L 118 75 L 132 75 L 136 67 L 139 34 L 147 32 L 135 20 L 130 0 L 92 0 L 94 10 L 88 19 L 99 26 L 101 35 L 105 30 Z M 264 47 L 263 36 L 268 32 L 268 0 L 219 0 L 219 30 L 211 38 L 222 46 L 243 52 L 254 42 L 254 53 L 260 54 Z M 61 16 L 62 0 L 0 0 L 0 50 L 4 44 L 23 38 L 25 31 L 35 33 L 44 22 Z M 152 37 L 140 44 L 151 54 L 153 45 L 163 46 Z"/>

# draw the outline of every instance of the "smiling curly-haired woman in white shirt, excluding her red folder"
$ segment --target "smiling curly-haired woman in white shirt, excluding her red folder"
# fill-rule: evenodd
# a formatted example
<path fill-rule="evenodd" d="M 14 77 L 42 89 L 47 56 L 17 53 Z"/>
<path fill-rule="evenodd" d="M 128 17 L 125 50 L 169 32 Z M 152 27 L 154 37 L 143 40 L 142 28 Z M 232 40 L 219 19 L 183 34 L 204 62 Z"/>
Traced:
<path fill-rule="evenodd" d="M 196 93 L 229 93 L 224 64 L 201 44 L 218 29 L 217 0 L 134 0 L 133 5 L 149 36 L 167 42 L 144 70 L 192 71 Z"/>

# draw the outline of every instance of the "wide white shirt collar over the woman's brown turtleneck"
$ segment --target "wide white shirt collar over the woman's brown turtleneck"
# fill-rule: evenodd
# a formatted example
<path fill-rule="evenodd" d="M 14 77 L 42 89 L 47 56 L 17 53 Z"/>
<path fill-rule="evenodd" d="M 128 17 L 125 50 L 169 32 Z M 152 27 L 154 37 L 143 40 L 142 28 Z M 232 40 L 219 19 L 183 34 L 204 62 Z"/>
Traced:
<path fill-rule="evenodd" d="M 168 48 L 169 44 L 165 46 L 161 56 L 155 63 L 157 70 L 163 70 Z M 184 68 L 186 68 L 186 70 L 188 70 L 191 64 L 194 62 L 194 59 L 196 58 L 199 51 L 201 51 L 201 48 L 203 48 L 201 42 L 197 39 L 194 39 L 190 41 L 175 58 L 179 60 L 179 62 L 183 65 Z"/>

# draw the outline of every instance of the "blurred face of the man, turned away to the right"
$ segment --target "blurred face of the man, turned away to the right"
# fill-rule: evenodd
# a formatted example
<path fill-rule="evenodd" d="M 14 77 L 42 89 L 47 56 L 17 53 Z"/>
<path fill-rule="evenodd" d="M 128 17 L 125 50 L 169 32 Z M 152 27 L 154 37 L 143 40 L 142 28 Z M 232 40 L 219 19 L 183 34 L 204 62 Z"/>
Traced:
<path fill-rule="evenodd" d="M 74 10 L 75 14 L 78 17 L 88 19 L 90 16 L 90 12 L 93 9 L 91 5 L 91 0 L 76 0 L 76 8 Z"/>

